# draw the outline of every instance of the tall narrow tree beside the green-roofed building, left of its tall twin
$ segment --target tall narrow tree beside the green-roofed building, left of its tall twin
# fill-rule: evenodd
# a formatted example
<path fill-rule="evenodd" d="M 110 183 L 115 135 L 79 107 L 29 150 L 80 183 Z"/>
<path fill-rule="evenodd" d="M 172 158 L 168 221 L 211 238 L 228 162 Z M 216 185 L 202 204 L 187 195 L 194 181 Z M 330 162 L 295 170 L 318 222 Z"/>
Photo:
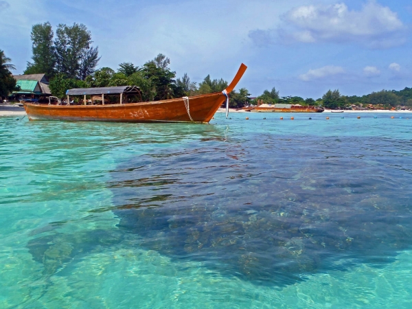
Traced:
<path fill-rule="evenodd" d="M 25 74 L 45 73 L 47 78 L 52 78 L 55 74 L 56 53 L 53 44 L 52 25 L 38 23 L 32 26 L 32 60 L 27 62 Z"/>

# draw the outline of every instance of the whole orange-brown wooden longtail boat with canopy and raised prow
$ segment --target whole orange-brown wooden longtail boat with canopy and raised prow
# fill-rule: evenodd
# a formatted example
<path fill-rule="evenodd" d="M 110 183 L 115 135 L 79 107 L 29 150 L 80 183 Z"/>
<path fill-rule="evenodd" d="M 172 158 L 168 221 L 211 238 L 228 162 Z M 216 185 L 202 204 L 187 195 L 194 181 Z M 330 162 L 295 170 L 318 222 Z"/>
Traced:
<path fill-rule="evenodd" d="M 207 123 L 220 105 L 225 101 L 228 104 L 228 93 L 233 91 L 246 69 L 247 66 L 242 63 L 235 78 L 220 93 L 153 102 L 129 103 L 128 98 L 130 99 L 132 95 L 139 97 L 139 87 L 69 89 L 67 91 L 67 105 L 61 105 L 60 103 L 58 105 L 42 105 L 28 102 L 23 104 L 30 120 Z M 83 104 L 71 104 L 70 95 L 82 95 L 84 98 Z M 119 102 L 105 104 L 108 102 L 107 98 L 112 98 L 114 95 L 119 96 Z M 87 96 L 91 100 L 87 100 Z M 101 102 L 95 105 L 96 100 Z"/>

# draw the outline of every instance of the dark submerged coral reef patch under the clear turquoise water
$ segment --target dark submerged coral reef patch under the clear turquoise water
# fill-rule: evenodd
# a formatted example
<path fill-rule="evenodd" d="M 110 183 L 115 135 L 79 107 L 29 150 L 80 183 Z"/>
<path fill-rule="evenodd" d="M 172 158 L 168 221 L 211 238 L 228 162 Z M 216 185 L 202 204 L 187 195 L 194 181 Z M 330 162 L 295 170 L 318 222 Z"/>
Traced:
<path fill-rule="evenodd" d="M 412 158 L 402 152 L 410 146 L 392 139 L 253 134 L 161 148 L 111 171 L 113 207 L 91 210 L 113 211 L 118 233 L 52 231 L 30 252 L 52 260 L 52 273 L 127 235 L 175 261 L 277 286 L 381 266 L 412 243 Z M 50 258 L 59 242 L 71 245 Z"/>

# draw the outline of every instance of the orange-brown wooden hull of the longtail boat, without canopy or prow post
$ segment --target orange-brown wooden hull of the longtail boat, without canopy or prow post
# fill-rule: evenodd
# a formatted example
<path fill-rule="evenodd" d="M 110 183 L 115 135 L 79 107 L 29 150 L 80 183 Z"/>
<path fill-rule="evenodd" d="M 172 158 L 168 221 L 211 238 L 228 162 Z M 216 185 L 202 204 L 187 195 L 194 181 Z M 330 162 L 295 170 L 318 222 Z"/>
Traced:
<path fill-rule="evenodd" d="M 225 100 L 226 97 L 222 93 L 190 97 L 189 113 L 192 119 L 183 98 L 105 105 L 23 104 L 30 120 L 207 123 Z"/>

